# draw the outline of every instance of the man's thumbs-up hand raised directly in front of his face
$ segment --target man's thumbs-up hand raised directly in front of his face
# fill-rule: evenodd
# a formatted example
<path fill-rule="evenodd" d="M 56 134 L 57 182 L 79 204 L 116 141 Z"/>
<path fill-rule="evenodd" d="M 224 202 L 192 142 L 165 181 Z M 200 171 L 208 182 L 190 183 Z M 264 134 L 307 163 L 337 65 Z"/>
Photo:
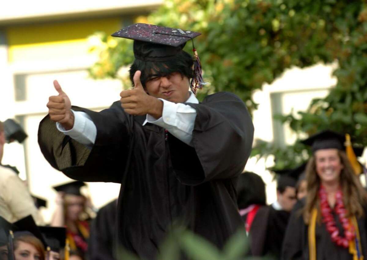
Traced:
<path fill-rule="evenodd" d="M 137 70 L 134 74 L 134 89 L 121 91 L 121 107 L 133 116 L 150 114 L 158 119 L 162 116 L 163 102 L 145 92 L 140 76 L 141 71 Z"/>

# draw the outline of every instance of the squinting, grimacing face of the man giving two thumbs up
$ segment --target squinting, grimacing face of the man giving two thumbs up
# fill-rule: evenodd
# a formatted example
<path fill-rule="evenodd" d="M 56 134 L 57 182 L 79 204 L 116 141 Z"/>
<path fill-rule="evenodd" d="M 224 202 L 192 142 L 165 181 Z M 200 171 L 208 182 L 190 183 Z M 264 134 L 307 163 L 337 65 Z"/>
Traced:
<path fill-rule="evenodd" d="M 145 90 L 155 98 L 183 103 L 189 98 L 189 79 L 178 72 L 166 77 L 154 77 L 145 83 Z"/>

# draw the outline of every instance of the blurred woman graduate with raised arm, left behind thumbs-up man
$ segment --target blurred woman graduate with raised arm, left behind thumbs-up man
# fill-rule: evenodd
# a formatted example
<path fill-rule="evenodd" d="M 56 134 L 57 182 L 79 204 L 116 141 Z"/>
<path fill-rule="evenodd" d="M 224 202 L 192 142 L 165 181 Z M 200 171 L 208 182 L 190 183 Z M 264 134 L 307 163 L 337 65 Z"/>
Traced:
<path fill-rule="evenodd" d="M 80 193 L 83 182 L 69 182 L 54 186 L 58 192 L 57 208 L 51 219 L 51 226 L 66 227 L 66 237 L 69 240 L 70 250 L 84 256 L 88 250 L 89 221 L 86 211 L 86 197 Z"/>

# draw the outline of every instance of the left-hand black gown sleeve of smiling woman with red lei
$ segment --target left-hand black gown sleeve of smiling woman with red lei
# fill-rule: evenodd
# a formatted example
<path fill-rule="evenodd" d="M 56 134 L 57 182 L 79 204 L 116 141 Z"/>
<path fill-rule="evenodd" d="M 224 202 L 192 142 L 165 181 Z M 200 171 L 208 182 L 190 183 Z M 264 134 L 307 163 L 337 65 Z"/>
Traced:
<path fill-rule="evenodd" d="M 298 201 L 289 218 L 281 250 L 282 260 L 301 260 L 304 250 L 305 223 L 301 213 L 303 203 Z"/>

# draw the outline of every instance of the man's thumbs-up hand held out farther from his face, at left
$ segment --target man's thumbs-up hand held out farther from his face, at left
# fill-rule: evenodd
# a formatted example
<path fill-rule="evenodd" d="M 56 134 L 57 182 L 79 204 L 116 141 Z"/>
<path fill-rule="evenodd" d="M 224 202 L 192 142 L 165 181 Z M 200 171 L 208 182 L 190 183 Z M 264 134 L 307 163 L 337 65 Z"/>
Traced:
<path fill-rule="evenodd" d="M 74 126 L 74 114 L 71 111 L 70 99 L 62 91 L 57 80 L 54 80 L 54 87 L 59 95 L 48 98 L 48 114 L 52 121 L 59 122 L 65 130 L 70 130 Z"/>

